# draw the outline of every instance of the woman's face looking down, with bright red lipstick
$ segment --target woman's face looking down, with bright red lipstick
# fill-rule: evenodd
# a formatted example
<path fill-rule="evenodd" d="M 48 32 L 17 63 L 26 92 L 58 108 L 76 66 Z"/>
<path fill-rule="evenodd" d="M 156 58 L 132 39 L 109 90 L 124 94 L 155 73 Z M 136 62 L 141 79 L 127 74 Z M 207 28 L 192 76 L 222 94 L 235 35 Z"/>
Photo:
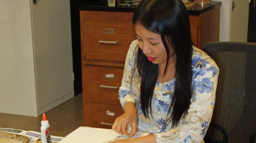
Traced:
<path fill-rule="evenodd" d="M 139 47 L 147 56 L 148 61 L 165 66 L 167 53 L 160 34 L 149 31 L 141 24 L 136 24 L 135 30 Z M 172 55 L 170 54 L 170 56 Z"/>

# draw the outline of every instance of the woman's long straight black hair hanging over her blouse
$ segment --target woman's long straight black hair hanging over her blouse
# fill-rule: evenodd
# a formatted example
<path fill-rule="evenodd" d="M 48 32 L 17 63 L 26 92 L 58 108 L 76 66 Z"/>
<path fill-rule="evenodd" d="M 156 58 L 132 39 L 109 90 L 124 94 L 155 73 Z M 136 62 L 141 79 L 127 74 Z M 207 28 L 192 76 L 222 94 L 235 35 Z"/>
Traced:
<path fill-rule="evenodd" d="M 186 7 L 181 0 L 142 0 L 134 12 L 133 24 L 142 24 L 149 31 L 160 34 L 167 53 L 164 74 L 169 63 L 168 45 L 171 44 L 173 48 L 176 55 L 175 89 L 166 121 L 172 121 L 172 127 L 177 126 L 180 118 L 188 113 L 192 98 L 192 40 Z M 152 116 L 151 101 L 159 67 L 149 62 L 138 48 L 137 64 L 134 68 L 138 68 L 141 77 L 140 103 L 143 114 L 148 117 L 150 109 Z"/>

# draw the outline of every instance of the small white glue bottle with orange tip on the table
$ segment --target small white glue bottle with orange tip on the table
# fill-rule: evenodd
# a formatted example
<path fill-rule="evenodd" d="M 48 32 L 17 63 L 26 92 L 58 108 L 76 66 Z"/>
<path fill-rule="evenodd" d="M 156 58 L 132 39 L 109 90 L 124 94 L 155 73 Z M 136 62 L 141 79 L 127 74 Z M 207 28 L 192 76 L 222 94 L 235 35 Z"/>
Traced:
<path fill-rule="evenodd" d="M 45 114 L 43 114 L 43 121 L 41 121 L 41 138 L 42 143 L 51 143 L 50 125 Z"/>

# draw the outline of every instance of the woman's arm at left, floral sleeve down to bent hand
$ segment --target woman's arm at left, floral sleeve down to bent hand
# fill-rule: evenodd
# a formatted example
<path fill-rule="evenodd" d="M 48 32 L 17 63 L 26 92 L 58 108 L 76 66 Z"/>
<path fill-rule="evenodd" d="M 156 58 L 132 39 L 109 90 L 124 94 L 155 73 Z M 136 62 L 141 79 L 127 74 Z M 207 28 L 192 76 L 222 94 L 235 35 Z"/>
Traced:
<path fill-rule="evenodd" d="M 124 114 L 116 118 L 113 123 L 112 129 L 119 134 L 125 134 L 127 136 L 133 136 L 137 132 L 137 103 L 140 101 L 139 96 L 134 91 L 134 86 L 131 87 L 131 82 L 136 81 L 134 78 L 137 73 L 134 73 L 132 77 L 133 66 L 134 66 L 134 50 L 137 48 L 137 40 L 131 43 L 125 59 L 125 68 L 122 78 L 122 85 L 119 88 L 118 98 L 125 111 Z M 133 79 L 132 79 L 133 78 Z M 131 134 L 127 132 L 127 125 L 132 128 Z"/>

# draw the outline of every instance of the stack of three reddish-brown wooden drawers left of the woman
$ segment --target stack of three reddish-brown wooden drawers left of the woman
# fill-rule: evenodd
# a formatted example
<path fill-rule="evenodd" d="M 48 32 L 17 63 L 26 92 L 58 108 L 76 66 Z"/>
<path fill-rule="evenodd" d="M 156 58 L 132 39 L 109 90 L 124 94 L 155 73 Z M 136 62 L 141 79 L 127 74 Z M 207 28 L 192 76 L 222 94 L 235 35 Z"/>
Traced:
<path fill-rule="evenodd" d="M 111 128 L 125 57 L 136 39 L 132 12 L 80 11 L 84 126 Z"/>

